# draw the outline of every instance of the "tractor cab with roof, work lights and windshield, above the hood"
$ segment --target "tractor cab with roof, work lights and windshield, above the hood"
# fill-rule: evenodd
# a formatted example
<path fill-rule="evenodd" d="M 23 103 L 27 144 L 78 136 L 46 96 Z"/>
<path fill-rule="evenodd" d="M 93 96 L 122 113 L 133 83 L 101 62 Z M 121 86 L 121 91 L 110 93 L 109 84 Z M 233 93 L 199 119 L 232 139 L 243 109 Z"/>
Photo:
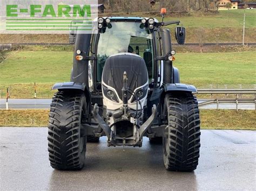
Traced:
<path fill-rule="evenodd" d="M 147 67 L 150 88 L 159 87 L 163 84 L 164 68 L 161 63 L 169 58 L 172 55 L 171 53 L 175 54 L 175 51 L 171 49 L 169 30 L 163 29 L 161 26 L 179 24 L 179 21 L 163 23 L 154 18 L 100 17 L 95 22 L 97 22 L 97 28 L 94 29 L 93 34 L 71 34 L 70 37 L 70 43 L 76 42 L 76 45 L 78 45 L 76 48 L 78 53 L 80 53 L 76 55 L 78 61 L 81 59 L 81 55 L 94 58 L 89 61 L 88 82 L 90 91 L 97 93 L 102 91 L 102 72 L 105 62 L 111 55 L 119 53 L 137 54 L 143 58 Z M 75 30 L 71 31 L 75 33 Z M 180 32 L 183 32 L 182 36 L 177 38 Z M 83 36 L 81 40 L 83 39 L 83 41 L 87 42 L 85 50 L 79 49 L 79 47 L 83 48 L 85 44 L 83 41 L 80 41 L 79 36 Z M 165 40 L 165 38 L 167 39 Z M 184 44 L 184 27 L 176 28 L 176 38 L 179 44 Z M 183 39 L 180 40 L 181 38 Z M 74 39 L 79 39 L 79 41 Z M 165 44 L 164 47 L 162 47 L 162 44 Z M 174 55 L 170 58 L 170 61 L 174 60 Z M 169 75 L 171 73 L 172 71 Z M 78 76 L 79 79 L 81 78 L 79 74 L 74 74 L 74 76 Z M 76 81 L 76 79 L 72 80 Z M 170 82 L 170 80 L 167 81 Z"/>

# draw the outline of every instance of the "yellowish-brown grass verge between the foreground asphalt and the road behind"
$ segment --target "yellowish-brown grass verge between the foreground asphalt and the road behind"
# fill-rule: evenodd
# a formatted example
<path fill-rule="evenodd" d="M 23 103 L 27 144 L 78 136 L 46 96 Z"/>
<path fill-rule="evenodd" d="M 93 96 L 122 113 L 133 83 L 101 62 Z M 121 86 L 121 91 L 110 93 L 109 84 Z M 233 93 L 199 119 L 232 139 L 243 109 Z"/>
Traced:
<path fill-rule="evenodd" d="M 0 110 L 0 126 L 47 126 L 49 110 Z M 256 111 L 200 110 L 201 129 L 256 130 Z"/>

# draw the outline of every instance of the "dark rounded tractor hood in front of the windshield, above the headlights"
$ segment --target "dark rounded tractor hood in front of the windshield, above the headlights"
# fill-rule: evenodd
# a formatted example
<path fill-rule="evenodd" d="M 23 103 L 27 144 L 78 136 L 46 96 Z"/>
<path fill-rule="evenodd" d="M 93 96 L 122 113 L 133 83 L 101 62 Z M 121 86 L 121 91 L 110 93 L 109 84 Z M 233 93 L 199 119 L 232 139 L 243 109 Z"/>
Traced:
<path fill-rule="evenodd" d="M 132 91 L 143 88 L 147 91 L 148 74 L 145 61 L 142 57 L 133 53 L 119 53 L 107 58 L 102 74 L 103 93 L 106 87 L 111 87 L 116 92 L 116 98 L 122 100 L 122 88 L 124 72 L 127 74 L 127 87 Z M 145 87 L 146 86 L 146 87 Z M 107 95 L 105 95 L 107 97 Z M 128 96 L 128 100 L 131 94 Z M 119 100 L 117 98 L 117 100 Z"/>

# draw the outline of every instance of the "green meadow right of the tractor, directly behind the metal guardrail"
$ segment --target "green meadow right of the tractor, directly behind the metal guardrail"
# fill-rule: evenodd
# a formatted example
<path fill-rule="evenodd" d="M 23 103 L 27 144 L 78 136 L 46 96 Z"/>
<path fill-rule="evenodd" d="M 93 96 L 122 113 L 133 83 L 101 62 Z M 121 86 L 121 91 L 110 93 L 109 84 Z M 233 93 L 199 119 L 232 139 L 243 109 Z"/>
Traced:
<path fill-rule="evenodd" d="M 207 84 L 255 84 L 256 52 L 179 53 L 174 66 L 180 79 L 197 87 Z"/>

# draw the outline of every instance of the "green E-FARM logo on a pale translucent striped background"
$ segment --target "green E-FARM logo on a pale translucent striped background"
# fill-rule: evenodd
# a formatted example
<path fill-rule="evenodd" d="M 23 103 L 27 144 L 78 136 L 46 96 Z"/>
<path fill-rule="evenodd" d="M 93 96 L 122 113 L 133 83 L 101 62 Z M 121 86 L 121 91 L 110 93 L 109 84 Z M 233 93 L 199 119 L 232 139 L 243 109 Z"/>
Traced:
<path fill-rule="evenodd" d="M 95 0 L 3 0 L 0 33 L 93 33 Z"/>

